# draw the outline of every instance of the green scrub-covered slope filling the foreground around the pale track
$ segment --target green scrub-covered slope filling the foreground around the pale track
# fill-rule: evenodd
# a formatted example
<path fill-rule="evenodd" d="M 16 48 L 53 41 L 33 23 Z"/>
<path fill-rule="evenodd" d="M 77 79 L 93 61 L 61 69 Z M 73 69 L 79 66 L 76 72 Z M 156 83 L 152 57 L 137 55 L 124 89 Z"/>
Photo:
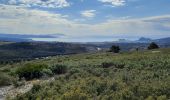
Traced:
<path fill-rule="evenodd" d="M 1 72 L 4 84 L 10 84 L 7 78 L 55 77 L 15 100 L 170 99 L 170 49 L 50 57 L 6 65 Z"/>

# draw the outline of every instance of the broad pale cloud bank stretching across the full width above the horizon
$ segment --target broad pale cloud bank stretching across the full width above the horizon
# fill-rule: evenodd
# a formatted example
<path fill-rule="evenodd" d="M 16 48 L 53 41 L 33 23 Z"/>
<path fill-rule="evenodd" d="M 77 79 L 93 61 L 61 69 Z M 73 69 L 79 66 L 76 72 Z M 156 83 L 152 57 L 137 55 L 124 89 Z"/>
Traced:
<path fill-rule="evenodd" d="M 21 6 L 0 5 L 0 32 L 9 34 L 64 34 L 58 41 L 82 41 L 91 36 L 170 36 L 170 15 L 138 19 L 107 20 L 84 24 L 65 15 Z"/>

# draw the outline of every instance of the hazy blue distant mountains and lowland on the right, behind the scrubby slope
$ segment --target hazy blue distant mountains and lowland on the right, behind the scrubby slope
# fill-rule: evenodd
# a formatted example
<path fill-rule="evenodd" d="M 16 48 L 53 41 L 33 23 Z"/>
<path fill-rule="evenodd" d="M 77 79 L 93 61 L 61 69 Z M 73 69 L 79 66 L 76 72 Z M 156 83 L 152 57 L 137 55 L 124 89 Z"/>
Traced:
<path fill-rule="evenodd" d="M 150 38 L 141 37 L 135 41 L 119 39 L 118 41 L 111 41 L 111 42 L 88 42 L 84 45 L 95 47 L 95 48 L 101 48 L 103 50 L 108 50 L 112 45 L 119 45 L 121 51 L 129 51 L 129 50 L 136 50 L 136 48 L 140 50 L 147 49 L 148 45 L 151 42 L 156 42 L 161 48 L 170 47 L 170 37 L 161 38 L 161 39 L 150 39 Z"/>

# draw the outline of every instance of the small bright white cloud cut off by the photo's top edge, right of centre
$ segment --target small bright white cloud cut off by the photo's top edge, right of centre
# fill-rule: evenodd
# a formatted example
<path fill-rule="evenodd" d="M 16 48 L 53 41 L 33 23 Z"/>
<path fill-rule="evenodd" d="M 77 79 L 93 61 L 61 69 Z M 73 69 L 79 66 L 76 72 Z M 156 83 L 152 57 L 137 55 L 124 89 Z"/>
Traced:
<path fill-rule="evenodd" d="M 125 0 L 99 0 L 99 1 L 103 3 L 109 3 L 113 7 L 124 6 L 126 3 Z"/>

